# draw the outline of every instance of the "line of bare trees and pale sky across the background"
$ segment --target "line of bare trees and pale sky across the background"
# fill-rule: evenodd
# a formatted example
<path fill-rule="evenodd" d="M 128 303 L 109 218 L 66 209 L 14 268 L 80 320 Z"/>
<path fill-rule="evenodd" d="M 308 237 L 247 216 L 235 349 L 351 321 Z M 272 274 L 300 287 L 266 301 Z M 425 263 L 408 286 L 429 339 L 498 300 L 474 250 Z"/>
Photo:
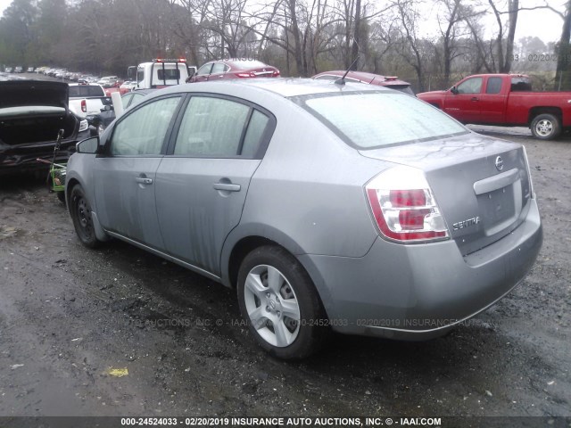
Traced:
<path fill-rule="evenodd" d="M 197 66 L 248 58 L 283 76 L 352 66 L 399 76 L 417 91 L 524 69 L 543 88 L 571 89 L 571 0 L 547 1 L 12 0 L 0 19 L 0 65 L 125 76 L 129 65 L 157 57 Z M 519 13 L 537 8 L 559 14 L 559 43 L 515 40 Z"/>

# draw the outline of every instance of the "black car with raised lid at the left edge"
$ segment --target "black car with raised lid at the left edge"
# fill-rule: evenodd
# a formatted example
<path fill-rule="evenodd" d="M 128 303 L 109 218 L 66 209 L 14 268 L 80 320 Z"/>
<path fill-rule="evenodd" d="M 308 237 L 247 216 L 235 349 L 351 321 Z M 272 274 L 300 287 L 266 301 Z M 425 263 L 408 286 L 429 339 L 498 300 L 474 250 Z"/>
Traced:
<path fill-rule="evenodd" d="M 65 163 L 75 144 L 91 136 L 87 120 L 69 110 L 68 92 L 61 82 L 0 82 L 0 174 L 46 169 L 37 159 Z"/>

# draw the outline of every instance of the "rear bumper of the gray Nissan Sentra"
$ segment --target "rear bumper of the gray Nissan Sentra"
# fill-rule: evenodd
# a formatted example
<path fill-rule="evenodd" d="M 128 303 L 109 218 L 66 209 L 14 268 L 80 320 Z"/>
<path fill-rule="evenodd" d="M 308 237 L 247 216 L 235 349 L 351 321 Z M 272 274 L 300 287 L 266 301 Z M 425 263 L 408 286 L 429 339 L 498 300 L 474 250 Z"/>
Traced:
<path fill-rule="evenodd" d="M 299 257 L 340 333 L 424 340 L 446 333 L 510 292 L 542 246 L 535 200 L 510 235 L 463 257 L 454 241 L 377 239 L 362 258 Z"/>

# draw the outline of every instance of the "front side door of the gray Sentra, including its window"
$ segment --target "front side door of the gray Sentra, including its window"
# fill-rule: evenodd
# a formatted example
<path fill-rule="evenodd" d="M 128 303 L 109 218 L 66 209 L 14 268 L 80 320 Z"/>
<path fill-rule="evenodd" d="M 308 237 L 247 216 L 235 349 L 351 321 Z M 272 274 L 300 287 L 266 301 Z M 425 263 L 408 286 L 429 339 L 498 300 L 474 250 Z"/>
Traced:
<path fill-rule="evenodd" d="M 95 206 L 102 226 L 137 243 L 163 249 L 154 178 L 180 95 L 153 100 L 114 125 L 105 156 L 95 158 Z"/>

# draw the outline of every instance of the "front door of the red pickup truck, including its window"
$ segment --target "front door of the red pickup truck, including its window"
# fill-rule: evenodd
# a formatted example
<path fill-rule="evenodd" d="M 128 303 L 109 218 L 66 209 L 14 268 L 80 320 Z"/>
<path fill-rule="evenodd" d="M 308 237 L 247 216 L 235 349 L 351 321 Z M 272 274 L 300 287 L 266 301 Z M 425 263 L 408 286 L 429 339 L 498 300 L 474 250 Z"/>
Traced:
<path fill-rule="evenodd" d="M 444 111 L 462 123 L 480 122 L 482 77 L 467 78 L 456 87 L 457 93 L 446 94 Z"/>

